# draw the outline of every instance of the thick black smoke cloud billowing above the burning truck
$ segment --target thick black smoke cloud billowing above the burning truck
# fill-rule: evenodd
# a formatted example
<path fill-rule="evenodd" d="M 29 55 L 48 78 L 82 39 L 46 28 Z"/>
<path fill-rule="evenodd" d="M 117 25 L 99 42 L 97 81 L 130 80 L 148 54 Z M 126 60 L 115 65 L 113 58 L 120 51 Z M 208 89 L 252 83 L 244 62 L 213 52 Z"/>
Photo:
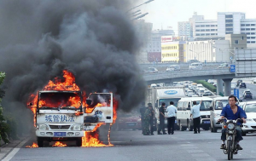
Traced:
<path fill-rule="evenodd" d="M 64 69 L 87 94 L 111 91 L 119 109 L 131 111 L 145 89 L 134 57 L 142 43 L 125 13 L 133 6 L 124 0 L 0 0 L 5 111 L 32 120 L 29 95 Z"/>

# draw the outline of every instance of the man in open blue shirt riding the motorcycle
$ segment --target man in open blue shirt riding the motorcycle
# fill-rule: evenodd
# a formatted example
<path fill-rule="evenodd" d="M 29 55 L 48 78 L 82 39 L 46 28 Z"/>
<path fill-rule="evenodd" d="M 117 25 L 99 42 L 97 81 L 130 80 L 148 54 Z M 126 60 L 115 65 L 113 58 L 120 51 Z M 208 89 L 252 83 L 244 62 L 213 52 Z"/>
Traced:
<path fill-rule="evenodd" d="M 229 104 L 224 106 L 222 109 L 222 112 L 220 114 L 220 118 L 218 121 L 221 121 L 223 118 L 236 120 L 237 118 L 241 118 L 243 123 L 246 123 L 247 115 L 243 111 L 243 109 L 240 106 L 236 105 L 237 98 L 235 95 L 229 96 Z M 238 122 L 236 126 L 236 148 L 238 150 L 242 150 L 241 146 L 239 145 L 239 141 L 243 140 L 241 137 L 241 127 L 239 126 L 241 123 Z M 226 129 L 222 129 L 222 135 L 221 135 L 222 145 L 220 149 L 224 149 L 225 147 L 225 140 L 226 140 Z"/>

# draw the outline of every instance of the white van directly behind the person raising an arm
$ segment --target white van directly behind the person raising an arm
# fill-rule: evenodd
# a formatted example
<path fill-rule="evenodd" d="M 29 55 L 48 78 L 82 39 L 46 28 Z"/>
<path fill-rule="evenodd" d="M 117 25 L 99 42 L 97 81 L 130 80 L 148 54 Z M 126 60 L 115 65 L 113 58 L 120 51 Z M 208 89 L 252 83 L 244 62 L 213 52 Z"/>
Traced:
<path fill-rule="evenodd" d="M 210 106 L 212 105 L 212 98 L 209 97 L 186 97 L 182 98 L 177 102 L 177 124 L 181 130 L 189 128 L 190 131 L 193 130 L 193 122 L 190 119 L 191 107 L 193 106 L 193 101 L 199 104 L 201 101 L 201 128 L 208 130 L 211 126 L 210 124 Z"/>

